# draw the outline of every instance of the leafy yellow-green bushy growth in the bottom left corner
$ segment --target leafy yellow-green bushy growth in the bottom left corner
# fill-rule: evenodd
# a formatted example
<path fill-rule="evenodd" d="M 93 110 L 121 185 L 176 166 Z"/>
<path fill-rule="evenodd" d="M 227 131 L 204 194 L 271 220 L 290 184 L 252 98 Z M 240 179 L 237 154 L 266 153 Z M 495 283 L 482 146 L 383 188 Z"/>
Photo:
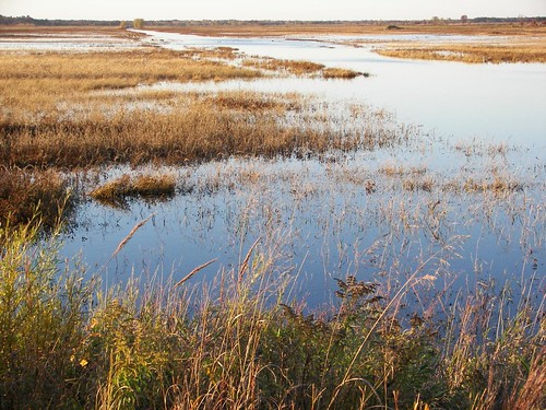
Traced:
<path fill-rule="evenodd" d="M 59 243 L 39 241 L 38 224 L 0 226 L 0 408 L 79 401 L 92 283 L 57 269 Z M 52 235 L 51 237 L 56 237 Z"/>

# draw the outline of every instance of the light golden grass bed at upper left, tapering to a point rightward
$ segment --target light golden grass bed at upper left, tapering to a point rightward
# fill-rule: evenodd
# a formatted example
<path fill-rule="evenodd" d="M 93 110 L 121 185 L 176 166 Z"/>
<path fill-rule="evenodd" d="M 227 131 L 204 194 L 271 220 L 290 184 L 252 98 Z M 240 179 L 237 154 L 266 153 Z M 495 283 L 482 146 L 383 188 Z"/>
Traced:
<path fill-rule="evenodd" d="M 111 52 L 0 54 L 0 90 L 3 98 L 25 99 L 26 91 L 55 95 L 120 89 L 157 81 L 203 81 L 256 78 L 260 72 L 183 52 L 139 49 Z"/>

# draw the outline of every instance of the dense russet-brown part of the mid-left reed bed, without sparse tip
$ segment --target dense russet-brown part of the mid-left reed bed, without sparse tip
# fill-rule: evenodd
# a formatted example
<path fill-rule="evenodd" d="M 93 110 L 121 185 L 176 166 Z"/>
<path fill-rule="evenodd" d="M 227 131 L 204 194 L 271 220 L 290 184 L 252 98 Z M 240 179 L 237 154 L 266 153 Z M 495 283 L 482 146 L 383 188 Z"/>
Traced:
<path fill-rule="evenodd" d="M 92 166 L 104 163 L 212 160 L 217 156 L 290 154 L 297 148 L 336 145 L 324 132 L 278 124 L 270 112 L 218 109 L 195 102 L 180 113 L 123 113 L 115 118 L 2 125 L 0 163 L 19 166 Z M 341 143 L 341 141 L 337 141 Z"/>

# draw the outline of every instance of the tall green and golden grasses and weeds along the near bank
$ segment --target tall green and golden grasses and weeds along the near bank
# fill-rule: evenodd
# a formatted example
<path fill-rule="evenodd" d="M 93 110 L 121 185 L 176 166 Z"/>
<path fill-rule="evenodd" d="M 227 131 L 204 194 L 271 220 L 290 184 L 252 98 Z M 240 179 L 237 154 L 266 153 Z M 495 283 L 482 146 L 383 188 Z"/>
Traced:
<path fill-rule="evenodd" d="M 37 234 L 0 231 L 0 408 L 544 408 L 545 318 L 525 302 L 506 318 L 477 290 L 407 320 L 408 286 L 382 298 L 348 276 L 309 314 L 259 244 L 195 300 L 183 280 L 104 289 Z"/>

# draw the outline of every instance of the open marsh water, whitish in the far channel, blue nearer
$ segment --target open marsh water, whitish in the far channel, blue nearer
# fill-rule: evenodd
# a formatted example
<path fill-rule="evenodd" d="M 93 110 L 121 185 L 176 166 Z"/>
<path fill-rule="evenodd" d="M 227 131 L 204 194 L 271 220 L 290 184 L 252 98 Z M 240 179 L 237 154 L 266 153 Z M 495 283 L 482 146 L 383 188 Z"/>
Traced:
<path fill-rule="evenodd" d="M 324 38 L 147 34 L 149 42 L 174 49 L 229 46 L 248 55 L 371 74 L 352 81 L 275 78 L 147 87 L 297 91 L 331 102 L 354 101 L 419 125 L 422 139 L 334 163 L 253 159 L 161 168 L 177 173 L 192 192 L 166 202 L 132 201 L 123 210 L 93 201 L 79 208 L 62 255 L 81 251 L 90 274 L 104 271 L 109 283 L 131 274 L 178 280 L 218 258 L 189 284 L 213 281 L 219 269 L 237 270 L 259 239 L 253 260 L 276 279 L 297 278 L 289 296 L 309 306 L 334 298 L 335 278 L 346 274 L 380 281 L 384 293 L 410 277 L 425 278 L 415 286 L 431 295 L 472 292 L 491 281 L 499 286 L 511 280 L 518 286 L 533 278 L 535 296 L 544 293 L 546 65 L 397 60 L 369 48 L 325 46 Z M 496 153 L 491 147 L 501 149 Z M 389 164 L 424 167 L 418 178 L 431 178 L 434 189 L 404 188 L 412 176 L 385 174 L 381 167 Z M 449 183 L 491 179 L 496 173 L 509 175 L 522 188 L 503 196 L 449 188 Z M 151 214 L 110 259 L 131 229 Z"/>

